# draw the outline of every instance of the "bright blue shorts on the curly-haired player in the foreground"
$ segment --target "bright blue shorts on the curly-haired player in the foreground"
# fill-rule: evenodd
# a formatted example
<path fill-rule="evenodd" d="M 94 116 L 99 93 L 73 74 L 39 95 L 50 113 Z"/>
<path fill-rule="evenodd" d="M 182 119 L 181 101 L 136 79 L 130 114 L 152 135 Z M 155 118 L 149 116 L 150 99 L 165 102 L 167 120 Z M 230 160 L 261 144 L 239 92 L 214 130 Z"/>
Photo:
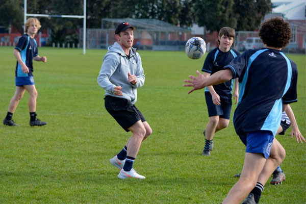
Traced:
<path fill-rule="evenodd" d="M 246 146 L 245 152 L 261 153 L 266 159 L 269 158 L 274 139 L 271 131 L 254 131 L 239 137 Z"/>

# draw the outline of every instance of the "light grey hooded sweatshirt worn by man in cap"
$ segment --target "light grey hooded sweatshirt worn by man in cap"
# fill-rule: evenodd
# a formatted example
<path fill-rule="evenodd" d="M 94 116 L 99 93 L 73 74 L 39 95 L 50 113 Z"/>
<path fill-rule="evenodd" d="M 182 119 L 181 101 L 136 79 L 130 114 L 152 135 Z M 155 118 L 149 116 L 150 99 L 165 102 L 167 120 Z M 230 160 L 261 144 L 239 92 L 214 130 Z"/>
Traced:
<path fill-rule="evenodd" d="M 135 74 L 135 85 L 127 81 L 127 73 Z M 108 47 L 108 52 L 103 58 L 103 64 L 98 75 L 98 84 L 104 88 L 105 96 L 126 98 L 132 104 L 137 101 L 137 88 L 144 84 L 145 75 L 141 65 L 141 58 L 135 48 L 130 48 L 130 59 L 127 58 L 121 45 L 115 42 Z M 114 87 L 122 87 L 122 96 L 114 95 Z"/>

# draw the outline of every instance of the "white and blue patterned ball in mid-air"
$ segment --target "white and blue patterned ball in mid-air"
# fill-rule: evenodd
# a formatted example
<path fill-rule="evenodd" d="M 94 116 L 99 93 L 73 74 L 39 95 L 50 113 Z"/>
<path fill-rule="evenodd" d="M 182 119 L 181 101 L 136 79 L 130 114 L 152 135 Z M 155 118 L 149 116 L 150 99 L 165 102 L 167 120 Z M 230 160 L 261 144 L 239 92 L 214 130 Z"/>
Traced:
<path fill-rule="evenodd" d="M 186 55 L 193 60 L 200 59 L 206 52 L 206 43 L 200 37 L 190 38 L 185 45 Z"/>

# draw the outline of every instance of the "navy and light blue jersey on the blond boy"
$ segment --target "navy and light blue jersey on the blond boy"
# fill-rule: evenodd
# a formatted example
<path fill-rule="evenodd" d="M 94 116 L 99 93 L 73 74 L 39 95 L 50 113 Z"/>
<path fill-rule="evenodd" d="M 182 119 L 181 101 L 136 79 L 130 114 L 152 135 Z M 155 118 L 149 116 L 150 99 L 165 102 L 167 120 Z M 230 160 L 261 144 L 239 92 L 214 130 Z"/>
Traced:
<path fill-rule="evenodd" d="M 20 57 L 25 65 L 29 68 L 29 73 L 23 73 L 20 64 L 16 64 L 16 77 L 29 77 L 33 76 L 33 57 L 38 56 L 37 42 L 34 38 L 30 38 L 24 34 L 18 41 L 15 49 L 19 50 Z"/>

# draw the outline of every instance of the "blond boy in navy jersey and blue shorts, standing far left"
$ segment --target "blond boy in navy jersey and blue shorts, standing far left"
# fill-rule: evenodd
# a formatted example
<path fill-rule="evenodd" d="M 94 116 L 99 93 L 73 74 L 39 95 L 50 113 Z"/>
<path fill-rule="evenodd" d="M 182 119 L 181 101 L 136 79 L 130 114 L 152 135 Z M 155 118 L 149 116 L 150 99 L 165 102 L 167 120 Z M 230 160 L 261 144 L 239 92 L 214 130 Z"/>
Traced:
<path fill-rule="evenodd" d="M 25 34 L 19 39 L 13 55 L 17 60 L 15 70 L 15 84 L 16 91 L 12 97 L 9 105 L 7 116 L 3 120 L 3 124 L 9 126 L 19 126 L 12 120 L 12 116 L 22 98 L 25 90 L 30 94 L 29 96 L 29 111 L 30 111 L 30 125 L 41 126 L 47 124 L 36 118 L 36 98 L 37 90 L 34 85 L 33 78 L 33 59 L 38 62 L 46 62 L 45 56 L 38 55 L 37 42 L 34 36 L 37 34 L 41 25 L 37 18 L 29 18 L 25 22 Z"/>

